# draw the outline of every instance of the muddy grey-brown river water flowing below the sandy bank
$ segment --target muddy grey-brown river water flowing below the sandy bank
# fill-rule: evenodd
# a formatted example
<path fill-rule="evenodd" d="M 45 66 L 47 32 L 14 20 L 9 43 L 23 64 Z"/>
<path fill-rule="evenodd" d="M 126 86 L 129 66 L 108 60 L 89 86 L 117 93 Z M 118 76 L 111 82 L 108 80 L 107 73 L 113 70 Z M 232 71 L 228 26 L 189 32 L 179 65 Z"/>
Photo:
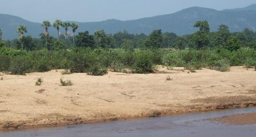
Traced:
<path fill-rule="evenodd" d="M 256 107 L 63 127 L 17 129 L 0 131 L 0 137 L 255 137 L 256 124 L 231 125 L 208 120 L 251 112 L 256 112 Z"/>

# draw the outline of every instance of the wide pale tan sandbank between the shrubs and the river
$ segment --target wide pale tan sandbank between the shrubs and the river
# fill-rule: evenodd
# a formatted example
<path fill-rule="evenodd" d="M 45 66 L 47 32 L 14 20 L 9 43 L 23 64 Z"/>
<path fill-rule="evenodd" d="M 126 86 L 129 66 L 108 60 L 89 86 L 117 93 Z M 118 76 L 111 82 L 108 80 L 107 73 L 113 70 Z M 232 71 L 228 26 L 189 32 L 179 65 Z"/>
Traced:
<path fill-rule="evenodd" d="M 0 129 L 130 119 L 256 105 L 256 71 L 231 67 L 187 73 L 160 68 L 154 74 L 109 72 L 62 75 L 60 70 L 3 75 Z M 173 79 L 167 81 L 167 76 Z M 38 77 L 43 84 L 35 86 Z M 59 78 L 73 86 L 59 86 Z M 40 89 L 43 89 L 39 91 Z"/>

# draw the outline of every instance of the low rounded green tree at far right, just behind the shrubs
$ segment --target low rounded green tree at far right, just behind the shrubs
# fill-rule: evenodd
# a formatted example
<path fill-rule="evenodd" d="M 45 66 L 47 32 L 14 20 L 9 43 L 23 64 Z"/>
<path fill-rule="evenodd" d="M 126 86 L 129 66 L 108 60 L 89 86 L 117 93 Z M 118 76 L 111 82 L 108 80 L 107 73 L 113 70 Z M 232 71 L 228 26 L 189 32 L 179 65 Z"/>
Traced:
<path fill-rule="evenodd" d="M 241 41 L 236 36 L 230 36 L 226 42 L 224 48 L 230 51 L 236 51 L 241 47 Z"/>

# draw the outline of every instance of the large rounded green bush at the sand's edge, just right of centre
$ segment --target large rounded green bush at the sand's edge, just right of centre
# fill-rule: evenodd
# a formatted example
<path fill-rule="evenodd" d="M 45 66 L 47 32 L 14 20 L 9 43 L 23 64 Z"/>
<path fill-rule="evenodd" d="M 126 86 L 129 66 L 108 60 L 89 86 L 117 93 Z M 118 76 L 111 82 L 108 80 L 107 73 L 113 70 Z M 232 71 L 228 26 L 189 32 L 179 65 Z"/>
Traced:
<path fill-rule="evenodd" d="M 147 51 L 135 52 L 134 64 L 132 66 L 133 73 L 152 73 L 154 72 L 154 63 L 149 58 Z"/>

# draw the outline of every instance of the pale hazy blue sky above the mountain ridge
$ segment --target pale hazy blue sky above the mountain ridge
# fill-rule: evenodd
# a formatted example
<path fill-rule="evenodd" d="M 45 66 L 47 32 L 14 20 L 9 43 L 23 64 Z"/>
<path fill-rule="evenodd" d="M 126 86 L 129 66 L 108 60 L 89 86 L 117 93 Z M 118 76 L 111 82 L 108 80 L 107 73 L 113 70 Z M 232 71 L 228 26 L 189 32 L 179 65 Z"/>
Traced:
<path fill-rule="evenodd" d="M 33 22 L 132 20 L 174 13 L 198 6 L 223 10 L 241 8 L 256 0 L 0 0 L 0 13 Z"/>

